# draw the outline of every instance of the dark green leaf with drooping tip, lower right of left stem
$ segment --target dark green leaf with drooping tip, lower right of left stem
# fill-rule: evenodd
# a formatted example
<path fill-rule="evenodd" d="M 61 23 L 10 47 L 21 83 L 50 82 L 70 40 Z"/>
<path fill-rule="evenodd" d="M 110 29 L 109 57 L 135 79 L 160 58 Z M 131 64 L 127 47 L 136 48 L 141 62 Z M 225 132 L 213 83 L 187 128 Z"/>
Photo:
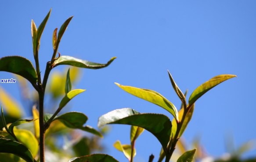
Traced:
<path fill-rule="evenodd" d="M 64 113 L 61 116 L 54 118 L 54 120 L 60 120 L 65 126 L 73 129 L 80 129 L 97 136 L 103 137 L 100 132 L 90 126 L 83 126 L 87 121 L 87 116 L 79 112 Z M 54 121 L 53 120 L 53 121 Z"/>

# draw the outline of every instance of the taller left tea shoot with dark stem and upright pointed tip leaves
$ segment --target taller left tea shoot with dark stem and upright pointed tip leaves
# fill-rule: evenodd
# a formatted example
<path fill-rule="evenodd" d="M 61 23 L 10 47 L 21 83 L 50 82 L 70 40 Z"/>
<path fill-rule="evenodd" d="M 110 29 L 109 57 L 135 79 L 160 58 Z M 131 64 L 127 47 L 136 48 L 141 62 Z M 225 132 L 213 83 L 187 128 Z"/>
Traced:
<path fill-rule="evenodd" d="M 69 25 L 69 22 L 72 20 L 72 17 L 68 18 L 63 25 L 61 25 L 61 28 L 59 29 L 59 32 L 57 34 L 58 28 L 54 29 L 53 37 L 52 37 L 52 44 L 53 44 L 53 54 L 49 62 L 46 64 L 46 69 L 44 73 L 43 79 L 41 79 L 41 70 L 39 66 L 39 49 L 40 49 L 40 38 L 43 33 L 43 30 L 45 28 L 45 25 L 47 24 L 48 18 L 50 17 L 51 10 L 47 14 L 47 16 L 44 18 L 42 23 L 38 28 L 36 28 L 36 24 L 32 20 L 31 22 L 31 32 L 32 32 L 32 45 L 33 45 L 33 55 L 34 60 L 36 64 L 36 68 L 33 67 L 32 63 L 27 60 L 24 57 L 21 56 L 6 56 L 0 58 L 0 71 L 7 71 L 11 72 L 13 74 L 18 74 L 25 79 L 27 79 L 33 88 L 38 93 L 38 109 L 33 109 L 33 113 L 36 114 L 34 116 L 38 115 L 38 119 L 32 119 L 32 120 L 18 120 L 14 123 L 11 123 L 9 126 L 7 126 L 7 123 L 4 118 L 4 112 L 3 108 L 1 106 L 1 113 L 2 113 L 2 123 L 4 124 L 5 130 L 0 132 L 1 138 L 0 138 L 0 152 L 1 153 L 11 153 L 14 155 L 17 155 L 21 158 L 23 158 L 27 162 L 36 162 L 36 155 L 37 155 L 37 145 L 40 145 L 40 162 L 45 161 L 44 153 L 44 145 L 45 145 L 45 133 L 47 129 L 50 127 L 51 123 L 58 120 L 61 123 L 63 123 L 66 127 L 72 128 L 72 129 L 80 129 L 87 132 L 90 132 L 92 134 L 95 134 L 97 136 L 102 137 L 102 134 L 95 130 L 94 128 L 90 126 L 83 126 L 84 123 L 87 121 L 87 116 L 83 113 L 79 112 L 69 112 L 64 113 L 60 116 L 57 116 L 58 113 L 63 109 L 63 107 L 76 95 L 84 92 L 84 89 L 73 89 L 69 77 L 69 71 L 66 76 L 66 82 L 65 82 L 65 95 L 61 99 L 61 102 L 59 103 L 58 109 L 55 111 L 54 114 L 44 114 L 44 96 L 45 96 L 45 90 L 47 85 L 47 80 L 50 74 L 50 71 L 59 65 L 71 65 L 75 67 L 81 67 L 81 68 L 89 68 L 89 69 L 100 69 L 107 67 L 110 63 L 112 63 L 113 60 L 115 60 L 116 57 L 112 57 L 108 63 L 101 64 L 101 63 L 93 63 L 87 60 L 80 60 L 77 58 L 74 58 L 72 56 L 61 56 L 60 53 L 58 53 L 58 47 L 61 42 L 61 38 Z M 56 58 L 58 53 L 58 57 Z M 30 135 L 31 141 L 25 142 L 22 141 L 22 137 L 19 137 L 20 130 L 15 129 L 16 126 L 23 124 L 23 123 L 29 123 L 32 121 L 39 120 L 39 122 L 34 122 L 35 124 L 35 134 L 33 135 L 31 132 L 27 132 L 29 130 L 21 130 L 26 131 L 27 134 Z M 37 125 L 37 123 L 39 125 Z M 39 130 L 39 134 L 36 130 Z M 39 142 L 36 141 L 36 137 L 39 137 Z M 32 144 L 32 146 L 31 146 Z M 104 155 L 98 155 L 98 156 L 104 156 Z M 110 157 L 111 158 L 111 157 Z M 75 159 L 71 161 L 76 161 Z"/>

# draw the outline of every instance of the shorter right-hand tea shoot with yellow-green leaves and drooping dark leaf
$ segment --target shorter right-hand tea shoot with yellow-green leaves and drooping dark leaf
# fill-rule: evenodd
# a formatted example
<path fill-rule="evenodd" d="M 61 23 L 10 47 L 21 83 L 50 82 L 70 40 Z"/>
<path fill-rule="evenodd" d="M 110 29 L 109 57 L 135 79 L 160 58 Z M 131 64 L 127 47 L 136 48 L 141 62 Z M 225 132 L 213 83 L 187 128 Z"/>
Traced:
<path fill-rule="evenodd" d="M 173 155 L 173 151 L 176 148 L 177 141 L 184 133 L 187 124 L 191 120 L 195 108 L 195 102 L 211 88 L 232 77 L 236 77 L 235 75 L 224 74 L 211 78 L 209 81 L 206 81 L 198 88 L 196 88 L 190 95 L 187 102 L 185 95 L 177 86 L 169 71 L 168 74 L 173 89 L 182 103 L 182 108 L 180 109 L 180 111 L 177 110 L 172 102 L 167 100 L 158 92 L 149 89 L 120 85 L 118 83 L 115 84 L 119 86 L 119 88 L 132 95 L 135 95 L 141 99 L 152 102 L 162 107 L 163 109 L 166 109 L 174 117 L 172 121 L 170 121 L 170 119 L 163 114 L 139 113 L 134 109 L 124 108 L 116 109 L 109 113 L 106 113 L 99 118 L 98 122 L 98 127 L 104 126 L 105 124 L 128 124 L 148 130 L 158 139 L 158 141 L 162 145 L 162 151 L 160 153 L 158 162 L 161 162 L 164 157 L 166 157 L 165 162 L 169 162 L 171 156 Z M 130 147 L 131 150 L 134 150 L 134 144 L 132 140 Z M 127 154 L 127 147 L 125 148 L 124 145 L 119 144 L 119 148 L 122 148 L 122 150 L 124 150 L 125 155 Z M 128 157 L 130 162 L 133 162 L 133 151 L 130 152 L 130 155 L 126 155 L 126 157 Z M 180 158 L 178 158 L 177 162 L 191 162 L 193 160 L 194 154 L 195 149 L 187 151 L 183 155 L 181 155 Z M 150 161 L 152 161 L 151 158 Z"/>

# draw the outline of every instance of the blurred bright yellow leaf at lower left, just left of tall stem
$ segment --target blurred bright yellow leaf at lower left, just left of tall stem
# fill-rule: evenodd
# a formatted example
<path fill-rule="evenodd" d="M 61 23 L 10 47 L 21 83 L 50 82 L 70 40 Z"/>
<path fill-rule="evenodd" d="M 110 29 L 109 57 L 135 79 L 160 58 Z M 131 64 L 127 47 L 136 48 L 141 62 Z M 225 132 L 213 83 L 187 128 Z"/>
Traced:
<path fill-rule="evenodd" d="M 14 134 L 22 144 L 29 148 L 32 155 L 35 157 L 39 150 L 39 143 L 34 134 L 25 129 L 14 129 Z"/>

